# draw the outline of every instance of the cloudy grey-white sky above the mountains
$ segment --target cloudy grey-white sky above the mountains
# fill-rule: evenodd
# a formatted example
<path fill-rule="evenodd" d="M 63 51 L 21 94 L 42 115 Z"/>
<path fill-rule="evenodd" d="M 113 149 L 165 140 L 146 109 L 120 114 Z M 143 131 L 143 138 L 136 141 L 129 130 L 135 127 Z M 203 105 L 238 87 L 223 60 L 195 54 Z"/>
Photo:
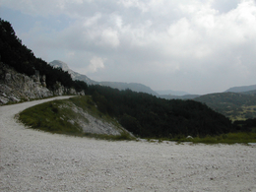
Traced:
<path fill-rule="evenodd" d="M 221 93 L 256 84 L 255 0 L 0 0 L 46 62 L 95 81 Z"/>

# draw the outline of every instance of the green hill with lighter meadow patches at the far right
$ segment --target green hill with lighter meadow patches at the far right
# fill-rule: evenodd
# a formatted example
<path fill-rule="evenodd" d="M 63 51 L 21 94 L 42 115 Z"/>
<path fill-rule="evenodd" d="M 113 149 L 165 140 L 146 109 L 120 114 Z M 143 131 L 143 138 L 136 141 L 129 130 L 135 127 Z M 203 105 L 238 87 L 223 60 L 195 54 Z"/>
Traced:
<path fill-rule="evenodd" d="M 242 93 L 219 93 L 194 98 L 225 116 L 235 119 L 256 117 L 256 96 Z"/>

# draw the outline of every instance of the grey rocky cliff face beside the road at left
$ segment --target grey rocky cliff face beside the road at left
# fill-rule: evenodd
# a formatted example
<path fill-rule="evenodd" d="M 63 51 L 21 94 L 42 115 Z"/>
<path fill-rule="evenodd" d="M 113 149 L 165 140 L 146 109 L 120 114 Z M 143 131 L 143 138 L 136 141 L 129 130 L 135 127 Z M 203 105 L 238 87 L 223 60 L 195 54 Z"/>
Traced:
<path fill-rule="evenodd" d="M 45 76 L 38 71 L 32 77 L 16 72 L 8 65 L 0 63 L 0 105 L 49 96 L 84 95 L 74 89 L 66 89 L 56 83 L 53 91 L 46 88 Z"/>

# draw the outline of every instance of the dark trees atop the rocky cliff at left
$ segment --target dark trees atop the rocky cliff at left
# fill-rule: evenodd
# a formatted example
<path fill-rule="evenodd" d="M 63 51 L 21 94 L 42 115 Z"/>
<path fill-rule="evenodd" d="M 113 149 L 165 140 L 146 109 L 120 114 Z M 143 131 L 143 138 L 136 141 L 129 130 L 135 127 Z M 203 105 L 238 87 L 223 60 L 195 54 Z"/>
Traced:
<path fill-rule="evenodd" d="M 47 88 L 53 90 L 56 82 L 66 88 L 75 88 L 77 91 L 88 88 L 85 82 L 73 81 L 68 72 L 61 68 L 54 68 L 40 58 L 36 58 L 32 50 L 22 44 L 9 22 L 0 19 L 0 61 L 12 66 L 20 73 L 32 76 L 35 70 L 46 76 Z"/>

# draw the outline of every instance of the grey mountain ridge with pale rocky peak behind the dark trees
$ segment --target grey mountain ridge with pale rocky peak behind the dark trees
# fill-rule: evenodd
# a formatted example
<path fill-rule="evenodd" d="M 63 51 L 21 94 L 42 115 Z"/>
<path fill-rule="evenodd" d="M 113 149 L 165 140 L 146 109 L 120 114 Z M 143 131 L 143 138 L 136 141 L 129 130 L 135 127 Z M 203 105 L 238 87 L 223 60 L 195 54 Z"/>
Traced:
<path fill-rule="evenodd" d="M 60 60 L 54 60 L 49 63 L 53 67 L 60 67 L 63 71 L 67 71 L 73 80 L 80 80 L 86 82 L 88 85 L 101 85 L 101 86 L 107 86 L 113 89 L 118 90 L 126 90 L 129 89 L 134 92 L 142 92 L 147 93 L 153 96 L 159 96 L 158 93 L 154 92 L 150 87 L 147 87 L 143 84 L 137 84 L 137 83 L 122 83 L 122 82 L 96 82 L 94 80 L 91 80 L 86 75 L 82 75 L 80 73 L 77 73 L 73 70 L 71 70 L 68 66 L 68 64 L 64 63 Z"/>

